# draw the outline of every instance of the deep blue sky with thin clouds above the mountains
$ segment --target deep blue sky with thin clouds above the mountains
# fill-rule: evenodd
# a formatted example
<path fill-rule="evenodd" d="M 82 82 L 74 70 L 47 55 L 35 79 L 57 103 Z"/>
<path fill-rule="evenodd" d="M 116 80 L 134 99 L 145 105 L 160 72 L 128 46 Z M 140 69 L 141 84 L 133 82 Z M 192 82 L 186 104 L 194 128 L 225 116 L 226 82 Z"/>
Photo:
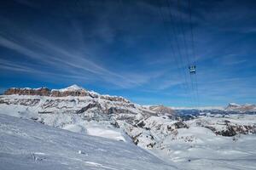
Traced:
<path fill-rule="evenodd" d="M 2 2 L 0 92 L 75 83 L 142 105 L 256 103 L 256 2 L 191 4 L 194 43 L 188 1 Z"/>

